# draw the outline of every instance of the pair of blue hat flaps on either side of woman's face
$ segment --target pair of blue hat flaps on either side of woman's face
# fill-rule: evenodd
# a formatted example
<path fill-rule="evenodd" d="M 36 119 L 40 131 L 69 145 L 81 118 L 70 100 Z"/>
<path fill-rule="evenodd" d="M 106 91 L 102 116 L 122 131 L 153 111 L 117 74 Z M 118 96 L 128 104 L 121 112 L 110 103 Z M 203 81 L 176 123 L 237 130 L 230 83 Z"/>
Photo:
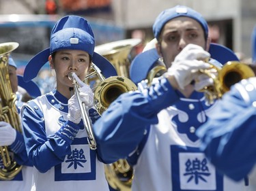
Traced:
<path fill-rule="evenodd" d="M 50 48 L 46 48 L 45 50 L 42 50 L 33 56 L 31 60 L 29 60 L 29 63 L 27 63 L 23 74 L 23 79 L 25 82 L 33 80 L 33 78 L 38 75 L 40 69 L 48 62 L 49 55 Z M 104 77 L 117 75 L 115 67 L 109 62 L 109 60 L 100 54 L 94 52 L 94 55 L 92 56 L 92 62 L 102 71 Z"/>

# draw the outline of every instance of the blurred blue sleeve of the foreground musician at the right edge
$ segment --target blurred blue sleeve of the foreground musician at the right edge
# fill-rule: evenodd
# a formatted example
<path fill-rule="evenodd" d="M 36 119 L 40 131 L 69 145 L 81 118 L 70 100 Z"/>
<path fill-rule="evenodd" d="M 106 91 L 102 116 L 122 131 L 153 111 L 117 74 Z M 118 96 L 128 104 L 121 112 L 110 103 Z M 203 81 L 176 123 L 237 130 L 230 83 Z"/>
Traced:
<path fill-rule="evenodd" d="M 236 84 L 227 92 L 201 126 L 201 150 L 227 176 L 238 181 L 256 162 L 256 84 L 255 79 Z"/>

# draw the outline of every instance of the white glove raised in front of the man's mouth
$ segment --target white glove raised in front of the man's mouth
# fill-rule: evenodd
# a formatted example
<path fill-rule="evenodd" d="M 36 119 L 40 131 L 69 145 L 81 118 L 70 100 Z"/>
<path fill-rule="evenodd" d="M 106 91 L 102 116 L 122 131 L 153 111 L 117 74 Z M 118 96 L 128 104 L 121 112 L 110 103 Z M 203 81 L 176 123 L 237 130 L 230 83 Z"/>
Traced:
<path fill-rule="evenodd" d="M 167 74 L 173 75 L 177 81 L 178 86 L 184 89 L 190 84 L 197 75 L 200 69 L 207 69 L 210 67 L 209 63 L 202 60 L 210 58 L 209 52 L 206 52 L 195 44 L 188 44 L 180 54 L 175 57 L 175 60 L 169 67 Z"/>

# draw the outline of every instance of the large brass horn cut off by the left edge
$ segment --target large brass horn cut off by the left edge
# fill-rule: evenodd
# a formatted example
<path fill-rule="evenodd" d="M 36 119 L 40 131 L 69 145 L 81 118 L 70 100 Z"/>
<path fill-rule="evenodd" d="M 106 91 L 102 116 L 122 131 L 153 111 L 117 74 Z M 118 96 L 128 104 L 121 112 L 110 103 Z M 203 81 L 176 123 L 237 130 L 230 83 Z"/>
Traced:
<path fill-rule="evenodd" d="M 16 94 L 12 92 L 8 71 L 10 52 L 16 48 L 18 48 L 16 42 L 0 44 L 0 121 L 10 123 L 13 128 L 21 132 L 20 118 L 15 105 Z M 2 163 L 0 179 L 13 179 L 22 169 L 22 166 L 14 161 L 12 153 L 8 151 L 8 146 L 0 147 L 0 159 Z"/>

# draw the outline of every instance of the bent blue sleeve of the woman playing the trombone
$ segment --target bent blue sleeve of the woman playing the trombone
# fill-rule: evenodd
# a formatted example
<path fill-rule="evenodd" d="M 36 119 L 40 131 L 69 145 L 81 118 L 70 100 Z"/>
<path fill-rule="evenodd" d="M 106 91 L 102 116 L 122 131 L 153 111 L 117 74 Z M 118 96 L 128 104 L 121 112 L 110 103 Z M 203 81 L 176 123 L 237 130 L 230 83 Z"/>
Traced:
<path fill-rule="evenodd" d="M 33 104 L 35 103 L 30 101 L 22 109 L 23 136 L 29 160 L 38 171 L 45 173 L 63 162 L 65 156 L 71 153 L 70 144 L 81 124 L 68 121 L 55 134 L 46 136 L 42 111 L 32 109 Z"/>

